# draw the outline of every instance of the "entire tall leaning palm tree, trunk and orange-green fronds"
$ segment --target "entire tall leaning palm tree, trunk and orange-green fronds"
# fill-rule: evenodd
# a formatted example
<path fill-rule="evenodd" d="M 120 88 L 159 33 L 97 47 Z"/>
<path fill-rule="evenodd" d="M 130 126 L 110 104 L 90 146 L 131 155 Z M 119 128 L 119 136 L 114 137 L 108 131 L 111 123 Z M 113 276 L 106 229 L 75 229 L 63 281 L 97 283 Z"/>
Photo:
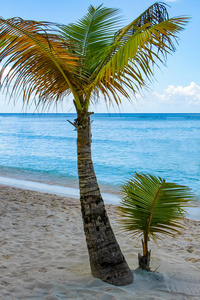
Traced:
<path fill-rule="evenodd" d="M 104 97 L 120 104 L 175 51 L 187 18 L 169 19 L 155 3 L 122 28 L 119 11 L 99 6 L 75 24 L 0 18 L 1 86 L 15 99 L 50 105 L 73 95 L 77 118 L 78 174 L 84 231 L 93 276 L 114 284 L 133 280 L 113 234 L 91 158 L 89 105 Z M 9 67 L 9 68 L 7 68 Z M 5 74 L 5 70 L 7 73 Z M 4 74 L 4 76 L 3 76 Z"/>

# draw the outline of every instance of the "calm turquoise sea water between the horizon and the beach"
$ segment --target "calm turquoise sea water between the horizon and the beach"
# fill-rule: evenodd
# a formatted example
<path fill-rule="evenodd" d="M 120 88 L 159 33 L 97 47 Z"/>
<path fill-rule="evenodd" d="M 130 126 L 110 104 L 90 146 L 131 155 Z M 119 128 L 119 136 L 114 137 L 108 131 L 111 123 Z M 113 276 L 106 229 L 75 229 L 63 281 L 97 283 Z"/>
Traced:
<path fill-rule="evenodd" d="M 0 114 L 0 176 L 77 186 L 74 114 Z M 96 114 L 92 153 L 100 186 L 135 172 L 188 185 L 200 198 L 200 114 Z"/>

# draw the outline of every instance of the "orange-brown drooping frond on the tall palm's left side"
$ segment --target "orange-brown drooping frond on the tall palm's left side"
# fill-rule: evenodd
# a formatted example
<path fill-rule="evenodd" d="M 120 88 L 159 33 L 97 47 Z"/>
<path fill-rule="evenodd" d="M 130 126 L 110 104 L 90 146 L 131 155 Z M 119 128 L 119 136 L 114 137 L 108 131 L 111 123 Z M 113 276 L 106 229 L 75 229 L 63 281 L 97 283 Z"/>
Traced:
<path fill-rule="evenodd" d="M 4 41 L 0 45 L 0 61 L 4 62 L 1 79 L 10 67 L 1 87 L 12 87 L 11 96 L 22 93 L 24 101 L 37 97 L 45 103 L 76 93 L 73 85 L 77 86 L 76 78 L 80 77 L 78 58 L 49 27 L 45 22 L 0 18 L 0 40 Z"/>

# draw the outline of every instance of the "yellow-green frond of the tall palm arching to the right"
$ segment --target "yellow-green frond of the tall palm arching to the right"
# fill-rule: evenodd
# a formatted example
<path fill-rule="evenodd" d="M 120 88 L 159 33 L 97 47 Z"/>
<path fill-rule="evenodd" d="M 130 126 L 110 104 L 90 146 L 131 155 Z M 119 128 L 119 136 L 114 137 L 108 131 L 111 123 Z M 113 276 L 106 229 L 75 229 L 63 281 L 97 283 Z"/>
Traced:
<path fill-rule="evenodd" d="M 136 93 L 153 75 L 153 67 L 165 63 L 166 55 L 175 51 L 177 34 L 187 17 L 168 19 L 165 6 L 155 3 L 139 18 L 116 33 L 99 66 L 92 75 L 90 88 L 121 84 L 121 90 Z M 106 89 L 106 86 L 105 86 Z"/>

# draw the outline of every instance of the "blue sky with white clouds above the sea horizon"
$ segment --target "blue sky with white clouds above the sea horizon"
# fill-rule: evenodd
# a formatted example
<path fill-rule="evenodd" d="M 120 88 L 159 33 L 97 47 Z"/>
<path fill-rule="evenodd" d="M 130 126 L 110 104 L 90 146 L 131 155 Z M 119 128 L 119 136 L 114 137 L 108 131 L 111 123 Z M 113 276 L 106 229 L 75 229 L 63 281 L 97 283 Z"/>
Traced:
<path fill-rule="evenodd" d="M 3 18 L 21 17 L 36 21 L 68 24 L 76 22 L 90 4 L 115 7 L 121 10 L 124 25 L 130 23 L 155 1 L 151 0 L 0 0 Z M 154 70 L 153 82 L 148 91 L 132 97 L 131 103 L 122 99 L 120 107 L 107 107 L 103 99 L 91 106 L 96 113 L 200 113 L 200 0 L 165 0 L 170 17 L 189 16 L 186 29 L 179 34 L 177 51 L 168 56 L 167 67 Z M 23 108 L 21 98 L 17 103 L 8 101 L 0 93 L 0 113 L 35 112 L 35 107 Z M 72 98 L 48 111 L 74 112 Z"/>

